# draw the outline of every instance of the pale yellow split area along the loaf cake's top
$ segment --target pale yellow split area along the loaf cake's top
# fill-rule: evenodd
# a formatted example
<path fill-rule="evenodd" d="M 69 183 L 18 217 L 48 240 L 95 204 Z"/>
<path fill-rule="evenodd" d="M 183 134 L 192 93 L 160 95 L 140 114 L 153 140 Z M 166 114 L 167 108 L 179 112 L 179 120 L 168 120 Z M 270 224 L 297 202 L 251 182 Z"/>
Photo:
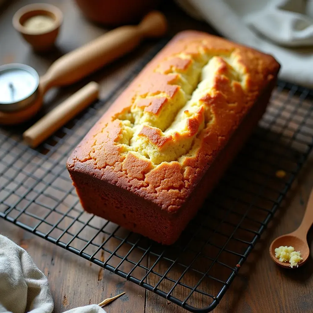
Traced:
<path fill-rule="evenodd" d="M 192 142 L 202 129 L 208 129 L 209 123 L 214 120 L 211 107 L 206 105 L 205 101 L 208 95 L 214 92 L 215 82 L 212 76 L 221 75 L 230 89 L 234 88 L 233 84 L 236 82 L 242 86 L 245 74 L 239 78 L 240 72 L 222 56 L 210 56 L 203 46 L 199 46 L 198 50 L 202 50 L 202 62 L 197 62 L 191 54 L 178 54 L 181 58 L 173 56 L 162 62 L 153 71 L 149 83 L 140 86 L 141 90 L 149 91 L 135 95 L 129 110 L 120 112 L 113 120 L 121 121 L 122 133 L 114 144 L 120 144 L 126 150 L 126 155 L 128 151 L 139 152 L 141 156 L 150 159 L 153 166 L 162 162 L 177 161 L 188 155 L 194 150 Z M 229 60 L 231 58 L 232 53 L 228 56 Z M 209 61 L 204 64 L 207 60 Z M 188 89 L 189 93 L 182 82 L 181 75 L 184 72 L 183 80 L 192 86 Z M 161 81 L 161 84 L 154 83 L 155 81 Z M 229 106 L 238 106 L 238 102 L 229 101 L 223 91 L 220 93 Z M 244 97 L 241 101 L 245 102 Z M 234 110 L 233 108 L 229 111 Z M 160 116 L 162 113 L 164 116 Z M 171 148 L 174 148 L 174 151 L 171 151 Z"/>

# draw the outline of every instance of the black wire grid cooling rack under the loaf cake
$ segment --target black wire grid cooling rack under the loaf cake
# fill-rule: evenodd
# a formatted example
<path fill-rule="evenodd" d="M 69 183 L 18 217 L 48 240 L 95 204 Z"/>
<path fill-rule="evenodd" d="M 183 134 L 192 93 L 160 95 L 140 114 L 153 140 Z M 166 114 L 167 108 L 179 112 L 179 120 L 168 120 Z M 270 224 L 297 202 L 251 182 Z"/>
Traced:
<path fill-rule="evenodd" d="M 279 82 L 259 127 L 171 247 L 83 211 L 65 162 L 132 74 L 33 150 L 0 128 L 0 216 L 192 312 L 220 302 L 312 149 L 313 92 Z M 107 107 L 107 106 L 106 106 Z M 279 171 L 279 172 L 278 172 Z M 278 175 L 279 174 L 279 175 Z"/>

